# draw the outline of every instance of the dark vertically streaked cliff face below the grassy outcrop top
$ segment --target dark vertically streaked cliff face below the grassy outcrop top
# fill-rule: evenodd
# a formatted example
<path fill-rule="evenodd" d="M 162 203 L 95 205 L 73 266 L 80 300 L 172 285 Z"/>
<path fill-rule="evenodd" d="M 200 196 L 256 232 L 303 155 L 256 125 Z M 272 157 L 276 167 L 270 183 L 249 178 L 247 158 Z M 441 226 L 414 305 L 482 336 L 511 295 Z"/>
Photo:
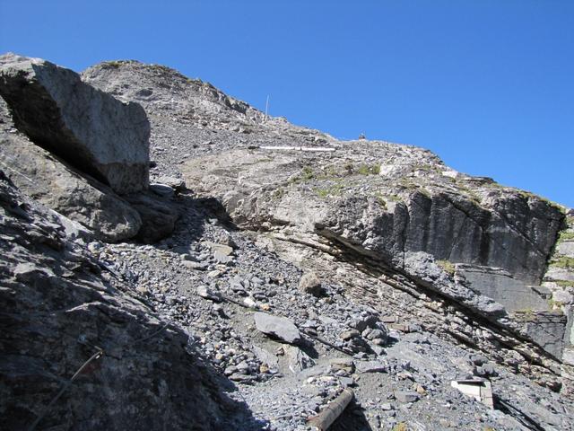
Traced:
<path fill-rule="evenodd" d="M 539 283 L 563 218 L 558 207 L 517 193 L 482 204 L 449 190 L 415 190 L 392 212 L 364 197 L 341 199 L 319 230 L 399 267 L 405 251 L 424 251 Z"/>

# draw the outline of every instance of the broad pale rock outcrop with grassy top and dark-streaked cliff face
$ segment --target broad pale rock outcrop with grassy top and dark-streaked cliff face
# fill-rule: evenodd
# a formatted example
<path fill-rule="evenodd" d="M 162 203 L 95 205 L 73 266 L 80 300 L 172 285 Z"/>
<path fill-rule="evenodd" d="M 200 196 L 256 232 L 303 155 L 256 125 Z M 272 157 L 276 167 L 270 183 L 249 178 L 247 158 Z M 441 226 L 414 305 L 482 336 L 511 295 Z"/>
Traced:
<path fill-rule="evenodd" d="M 540 283 L 564 223 L 560 207 L 454 172 L 421 148 L 372 141 L 312 148 L 254 145 L 206 155 L 187 163 L 184 175 L 221 198 L 240 225 L 331 242 L 505 326 L 508 312 L 550 311 Z M 552 343 L 545 330 L 529 331 L 555 357 L 564 336 L 558 321 L 562 330 L 547 331 Z"/>

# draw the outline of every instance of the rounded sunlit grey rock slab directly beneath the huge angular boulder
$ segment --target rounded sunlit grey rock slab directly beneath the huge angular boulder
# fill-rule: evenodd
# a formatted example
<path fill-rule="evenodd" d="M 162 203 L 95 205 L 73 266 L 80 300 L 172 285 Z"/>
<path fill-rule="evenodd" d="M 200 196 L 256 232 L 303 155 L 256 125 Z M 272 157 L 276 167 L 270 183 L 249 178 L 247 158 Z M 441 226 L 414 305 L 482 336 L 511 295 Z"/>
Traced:
<path fill-rule="evenodd" d="M 31 198 L 83 224 L 101 241 L 135 236 L 142 220 L 108 187 L 86 178 L 13 129 L 0 98 L 0 162 L 6 175 Z"/>

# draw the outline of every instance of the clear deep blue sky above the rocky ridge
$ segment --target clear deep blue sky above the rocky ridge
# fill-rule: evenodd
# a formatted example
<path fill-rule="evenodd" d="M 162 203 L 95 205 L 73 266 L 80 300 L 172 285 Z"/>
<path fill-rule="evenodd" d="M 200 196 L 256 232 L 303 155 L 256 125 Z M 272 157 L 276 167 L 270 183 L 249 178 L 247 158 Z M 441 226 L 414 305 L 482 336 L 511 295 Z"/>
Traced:
<path fill-rule="evenodd" d="M 0 0 L 0 51 L 172 66 L 574 207 L 573 0 Z"/>

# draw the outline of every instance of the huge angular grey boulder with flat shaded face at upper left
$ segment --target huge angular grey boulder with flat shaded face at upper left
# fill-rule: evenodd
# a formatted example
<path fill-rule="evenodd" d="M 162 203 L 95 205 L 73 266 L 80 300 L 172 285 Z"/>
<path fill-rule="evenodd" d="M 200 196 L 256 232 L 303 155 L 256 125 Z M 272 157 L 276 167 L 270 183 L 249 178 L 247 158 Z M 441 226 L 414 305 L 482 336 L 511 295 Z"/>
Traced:
<path fill-rule="evenodd" d="M 16 128 L 118 193 L 147 189 L 150 124 L 143 108 L 39 58 L 0 57 L 0 95 Z"/>

